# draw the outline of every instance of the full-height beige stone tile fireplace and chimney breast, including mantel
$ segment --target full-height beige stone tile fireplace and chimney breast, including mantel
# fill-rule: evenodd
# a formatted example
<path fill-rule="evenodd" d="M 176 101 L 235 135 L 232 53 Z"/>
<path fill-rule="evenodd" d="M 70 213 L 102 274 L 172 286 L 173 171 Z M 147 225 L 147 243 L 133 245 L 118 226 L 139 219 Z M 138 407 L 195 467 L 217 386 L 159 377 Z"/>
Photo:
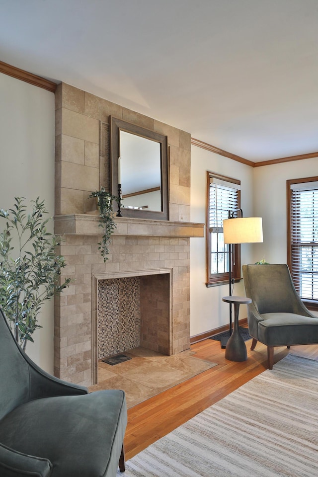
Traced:
<path fill-rule="evenodd" d="M 116 218 L 104 263 L 98 250 L 98 216 L 89 212 L 87 197 L 107 182 L 109 114 L 167 135 L 170 220 Z M 100 353 L 123 352 L 131 339 L 167 355 L 190 347 L 190 238 L 204 235 L 203 224 L 189 221 L 190 149 L 188 133 L 65 83 L 58 86 L 55 233 L 63 236 L 63 273 L 74 282 L 55 299 L 55 376 L 84 386 L 95 384 Z M 121 290 L 125 299 L 119 300 L 116 280 L 121 287 L 133 282 L 137 288 Z M 110 284 L 115 288 L 108 288 Z M 116 303 L 110 303 L 111 294 Z M 132 294 L 133 310 L 127 300 Z M 109 312 L 105 306 L 110 306 Z M 107 313 L 112 318 L 104 323 Z M 135 316 L 133 338 L 130 315 Z M 125 331 L 128 337 L 114 340 L 109 336 L 112 330 L 116 337 Z"/>

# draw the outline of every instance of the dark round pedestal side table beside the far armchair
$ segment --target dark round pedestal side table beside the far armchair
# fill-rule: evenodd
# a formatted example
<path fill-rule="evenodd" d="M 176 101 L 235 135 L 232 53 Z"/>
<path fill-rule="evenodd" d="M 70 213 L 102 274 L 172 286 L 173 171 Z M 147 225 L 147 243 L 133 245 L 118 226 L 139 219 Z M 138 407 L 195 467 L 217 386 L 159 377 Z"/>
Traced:
<path fill-rule="evenodd" d="M 243 338 L 239 334 L 239 305 L 251 303 L 246 297 L 223 297 L 222 300 L 234 304 L 234 326 L 233 332 L 225 348 L 225 357 L 230 361 L 246 361 L 247 351 Z"/>

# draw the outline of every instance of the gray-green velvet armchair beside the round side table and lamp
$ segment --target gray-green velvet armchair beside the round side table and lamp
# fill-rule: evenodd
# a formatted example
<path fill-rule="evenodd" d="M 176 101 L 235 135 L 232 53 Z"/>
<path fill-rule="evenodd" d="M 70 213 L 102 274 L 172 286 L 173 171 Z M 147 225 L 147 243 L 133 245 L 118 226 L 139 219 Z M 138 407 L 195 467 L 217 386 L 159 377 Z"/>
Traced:
<path fill-rule="evenodd" d="M 318 318 L 299 298 L 286 264 L 243 265 L 251 349 L 257 341 L 267 346 L 268 368 L 273 368 L 275 346 L 318 343 Z"/>

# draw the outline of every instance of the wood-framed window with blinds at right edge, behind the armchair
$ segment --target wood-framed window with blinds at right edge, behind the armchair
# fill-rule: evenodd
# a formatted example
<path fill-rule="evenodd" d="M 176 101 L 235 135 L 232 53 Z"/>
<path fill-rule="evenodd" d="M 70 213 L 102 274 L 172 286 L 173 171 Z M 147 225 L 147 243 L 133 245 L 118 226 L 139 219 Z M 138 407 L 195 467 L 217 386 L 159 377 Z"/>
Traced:
<path fill-rule="evenodd" d="M 318 177 L 287 181 L 287 263 L 294 286 L 318 309 Z"/>

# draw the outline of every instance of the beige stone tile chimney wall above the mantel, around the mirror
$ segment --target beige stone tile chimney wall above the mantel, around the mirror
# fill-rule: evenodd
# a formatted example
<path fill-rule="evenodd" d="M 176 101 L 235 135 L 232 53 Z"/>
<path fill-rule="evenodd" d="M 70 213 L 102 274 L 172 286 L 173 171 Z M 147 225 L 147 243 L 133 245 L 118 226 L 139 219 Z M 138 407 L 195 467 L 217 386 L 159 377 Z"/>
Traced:
<path fill-rule="evenodd" d="M 60 83 L 55 94 L 55 214 L 94 209 L 87 197 L 107 181 L 100 130 L 110 115 L 168 137 L 169 220 L 189 222 L 190 134 L 66 83 Z M 107 137 L 102 142 L 107 149 Z"/>

